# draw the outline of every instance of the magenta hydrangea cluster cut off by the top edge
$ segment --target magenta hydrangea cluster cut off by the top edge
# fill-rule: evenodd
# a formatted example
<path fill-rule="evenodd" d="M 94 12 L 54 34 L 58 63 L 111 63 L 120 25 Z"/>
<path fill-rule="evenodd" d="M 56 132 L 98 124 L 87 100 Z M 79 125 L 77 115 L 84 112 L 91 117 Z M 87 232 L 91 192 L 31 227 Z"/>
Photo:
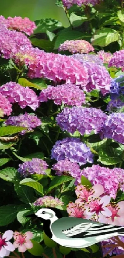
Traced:
<path fill-rule="evenodd" d="M 86 6 L 92 4 L 94 6 L 99 4 L 100 0 L 62 0 L 62 2 L 63 5 L 69 9 L 74 4 L 78 6 L 82 6 L 82 4 Z"/>

